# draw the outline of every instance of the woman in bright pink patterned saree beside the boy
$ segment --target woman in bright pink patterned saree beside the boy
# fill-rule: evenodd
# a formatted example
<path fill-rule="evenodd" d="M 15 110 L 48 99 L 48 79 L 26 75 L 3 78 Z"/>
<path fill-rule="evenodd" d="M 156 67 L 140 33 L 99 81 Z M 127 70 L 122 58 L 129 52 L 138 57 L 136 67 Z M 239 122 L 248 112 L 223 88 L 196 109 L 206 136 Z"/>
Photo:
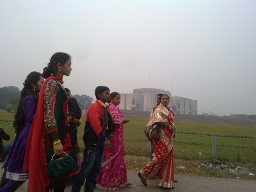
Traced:
<path fill-rule="evenodd" d="M 96 179 L 96 187 L 105 191 L 115 190 L 121 186 L 131 185 L 127 181 L 127 170 L 124 160 L 123 133 L 124 125 L 130 120 L 124 120 L 121 111 L 116 107 L 120 104 L 120 94 L 113 92 L 110 94 L 111 103 L 108 106 L 109 113 L 115 121 L 115 132 L 110 141 L 111 150 L 104 149 L 102 167 L 99 177 Z"/>

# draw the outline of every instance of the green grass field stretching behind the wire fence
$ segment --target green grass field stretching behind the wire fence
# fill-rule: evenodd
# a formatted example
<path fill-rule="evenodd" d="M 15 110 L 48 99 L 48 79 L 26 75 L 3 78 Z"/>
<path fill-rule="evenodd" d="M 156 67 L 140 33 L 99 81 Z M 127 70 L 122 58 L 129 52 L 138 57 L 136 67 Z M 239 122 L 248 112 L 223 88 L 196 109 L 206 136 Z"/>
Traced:
<path fill-rule="evenodd" d="M 0 111 L 0 119 L 13 120 L 13 113 Z M 125 154 L 129 156 L 149 157 L 148 140 L 144 134 L 145 126 L 148 120 L 142 118 L 129 118 L 131 122 L 124 125 L 124 145 Z M 81 149 L 83 150 L 83 127 L 85 115 L 81 118 L 81 127 L 77 132 Z M 212 137 L 195 136 L 193 134 L 212 134 L 218 136 L 250 136 L 256 138 L 256 127 L 246 127 L 237 125 L 204 124 L 195 122 L 175 122 L 177 134 L 173 140 L 173 149 L 175 158 L 189 160 L 205 160 L 212 158 Z M 8 134 L 11 135 L 11 141 L 14 140 L 14 129 L 10 123 L 1 123 Z M 137 131 L 137 132 L 136 132 Z M 179 132 L 193 133 L 179 134 Z M 6 141 L 4 141 L 6 142 Z M 216 138 L 216 156 L 215 158 L 234 163 L 256 163 L 256 141 L 241 138 Z"/>

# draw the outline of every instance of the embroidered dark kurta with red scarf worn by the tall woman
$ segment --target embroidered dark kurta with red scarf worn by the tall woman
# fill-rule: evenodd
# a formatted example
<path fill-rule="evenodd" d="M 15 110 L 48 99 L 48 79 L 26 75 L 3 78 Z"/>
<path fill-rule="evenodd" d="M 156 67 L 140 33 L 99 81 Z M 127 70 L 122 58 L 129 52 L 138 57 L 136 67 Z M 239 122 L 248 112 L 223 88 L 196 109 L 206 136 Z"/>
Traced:
<path fill-rule="evenodd" d="M 68 132 L 68 97 L 62 83 L 61 77 L 51 76 L 45 80 L 40 90 L 40 93 L 43 94 L 40 94 L 38 100 L 24 161 L 23 172 L 29 172 L 28 191 L 44 192 L 45 187 L 50 184 L 47 177 L 47 163 L 54 154 L 50 133 L 58 131 L 63 151 L 76 159 Z M 68 177 L 77 173 L 78 171 L 70 173 Z M 68 177 L 67 180 L 63 181 L 65 184 L 70 181 Z"/>

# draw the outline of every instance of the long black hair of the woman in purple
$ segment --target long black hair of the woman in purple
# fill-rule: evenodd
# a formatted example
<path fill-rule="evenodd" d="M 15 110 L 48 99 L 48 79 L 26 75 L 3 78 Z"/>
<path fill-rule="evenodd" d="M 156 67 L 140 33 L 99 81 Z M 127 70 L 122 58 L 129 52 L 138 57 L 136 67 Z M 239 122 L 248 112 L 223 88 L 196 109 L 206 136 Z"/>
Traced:
<path fill-rule="evenodd" d="M 21 95 L 20 95 L 20 101 L 19 101 L 19 106 L 17 108 L 17 112 L 15 114 L 14 122 L 13 122 L 13 127 L 15 128 L 15 133 L 17 135 L 20 134 L 20 131 L 23 128 L 24 122 L 25 122 L 25 115 L 23 111 L 23 100 L 25 97 L 28 95 L 32 95 L 33 98 L 35 99 L 35 104 L 37 106 L 38 102 L 38 93 L 33 92 L 33 86 L 32 84 L 37 84 L 39 81 L 40 77 L 42 77 L 42 74 L 39 72 L 31 72 L 28 74 L 24 84 L 24 88 L 22 88 Z"/>

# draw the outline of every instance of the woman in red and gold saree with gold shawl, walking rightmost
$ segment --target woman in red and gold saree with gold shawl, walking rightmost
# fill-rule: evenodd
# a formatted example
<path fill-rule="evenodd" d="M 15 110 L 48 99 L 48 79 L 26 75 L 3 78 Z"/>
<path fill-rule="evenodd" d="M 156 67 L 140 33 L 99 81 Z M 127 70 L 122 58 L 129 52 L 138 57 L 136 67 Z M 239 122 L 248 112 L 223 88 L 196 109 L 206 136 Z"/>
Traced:
<path fill-rule="evenodd" d="M 161 127 L 159 140 L 150 140 L 154 154 L 150 162 L 138 173 L 141 182 L 147 186 L 147 179 L 155 179 L 162 188 L 173 188 L 173 112 L 167 107 L 169 96 L 162 95 L 161 103 L 150 116 L 147 127 L 157 124 Z"/>

